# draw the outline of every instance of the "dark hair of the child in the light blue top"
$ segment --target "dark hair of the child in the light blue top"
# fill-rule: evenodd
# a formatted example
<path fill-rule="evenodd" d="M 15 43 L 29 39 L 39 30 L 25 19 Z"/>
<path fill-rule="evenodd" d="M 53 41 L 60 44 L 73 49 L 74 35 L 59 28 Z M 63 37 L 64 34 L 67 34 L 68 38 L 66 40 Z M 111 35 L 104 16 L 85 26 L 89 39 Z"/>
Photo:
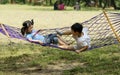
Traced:
<path fill-rule="evenodd" d="M 21 33 L 22 35 L 24 36 L 25 33 L 26 33 L 26 29 L 30 26 L 30 25 L 34 25 L 34 21 L 33 19 L 30 21 L 30 20 L 27 20 L 27 21 L 24 21 L 23 22 L 23 27 L 21 28 Z"/>

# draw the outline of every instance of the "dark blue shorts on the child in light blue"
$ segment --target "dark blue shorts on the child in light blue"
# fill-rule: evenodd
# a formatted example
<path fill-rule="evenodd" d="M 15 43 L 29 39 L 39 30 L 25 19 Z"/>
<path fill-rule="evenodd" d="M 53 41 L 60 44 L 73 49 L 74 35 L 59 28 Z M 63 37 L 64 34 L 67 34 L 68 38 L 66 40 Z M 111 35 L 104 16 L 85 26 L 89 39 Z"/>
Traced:
<path fill-rule="evenodd" d="M 45 38 L 47 44 L 58 44 L 57 34 L 49 34 L 46 35 Z"/>

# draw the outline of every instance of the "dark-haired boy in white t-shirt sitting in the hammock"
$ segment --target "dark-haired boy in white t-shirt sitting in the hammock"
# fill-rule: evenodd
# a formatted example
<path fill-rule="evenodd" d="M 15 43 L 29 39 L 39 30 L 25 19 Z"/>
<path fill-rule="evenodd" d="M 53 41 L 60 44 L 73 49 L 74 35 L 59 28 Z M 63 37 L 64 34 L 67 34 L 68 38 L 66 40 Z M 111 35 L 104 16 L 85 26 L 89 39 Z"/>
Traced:
<path fill-rule="evenodd" d="M 59 35 L 70 35 L 76 40 L 76 45 L 63 46 L 69 50 L 75 50 L 77 53 L 85 51 L 90 48 L 90 37 L 87 35 L 87 28 L 83 28 L 82 24 L 75 23 L 71 26 L 71 31 L 59 32 Z"/>

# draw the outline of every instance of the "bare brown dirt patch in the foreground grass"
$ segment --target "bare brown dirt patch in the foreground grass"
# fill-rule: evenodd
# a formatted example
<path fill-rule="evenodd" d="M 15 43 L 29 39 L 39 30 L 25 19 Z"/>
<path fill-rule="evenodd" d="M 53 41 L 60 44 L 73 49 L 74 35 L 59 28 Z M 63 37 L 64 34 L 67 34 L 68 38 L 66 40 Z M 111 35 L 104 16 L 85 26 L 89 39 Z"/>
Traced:
<path fill-rule="evenodd" d="M 62 75 L 64 70 L 70 70 L 76 66 L 83 66 L 84 63 L 59 63 L 56 65 L 47 65 L 46 68 L 42 68 L 41 66 L 29 67 L 20 69 L 18 72 L 27 74 L 27 75 Z"/>

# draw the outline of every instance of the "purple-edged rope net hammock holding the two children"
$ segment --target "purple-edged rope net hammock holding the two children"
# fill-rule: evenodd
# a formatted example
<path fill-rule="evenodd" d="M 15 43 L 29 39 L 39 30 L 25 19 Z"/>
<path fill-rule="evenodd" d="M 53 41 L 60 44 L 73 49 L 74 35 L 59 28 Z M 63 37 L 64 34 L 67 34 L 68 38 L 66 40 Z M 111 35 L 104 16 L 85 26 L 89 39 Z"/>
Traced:
<path fill-rule="evenodd" d="M 89 30 L 88 35 L 91 38 L 91 49 L 118 44 L 120 42 L 120 13 L 103 12 L 85 22 L 82 22 L 82 24 Z M 38 34 L 47 35 L 50 33 L 55 33 L 56 29 L 63 32 L 70 30 L 70 27 L 42 29 L 39 30 Z M 20 28 L 17 27 L 0 24 L 0 32 L 10 38 L 28 41 L 22 36 Z M 71 44 L 75 44 L 74 39 L 70 35 L 63 35 L 62 38 Z M 48 44 L 43 46 L 57 47 L 55 45 Z"/>

